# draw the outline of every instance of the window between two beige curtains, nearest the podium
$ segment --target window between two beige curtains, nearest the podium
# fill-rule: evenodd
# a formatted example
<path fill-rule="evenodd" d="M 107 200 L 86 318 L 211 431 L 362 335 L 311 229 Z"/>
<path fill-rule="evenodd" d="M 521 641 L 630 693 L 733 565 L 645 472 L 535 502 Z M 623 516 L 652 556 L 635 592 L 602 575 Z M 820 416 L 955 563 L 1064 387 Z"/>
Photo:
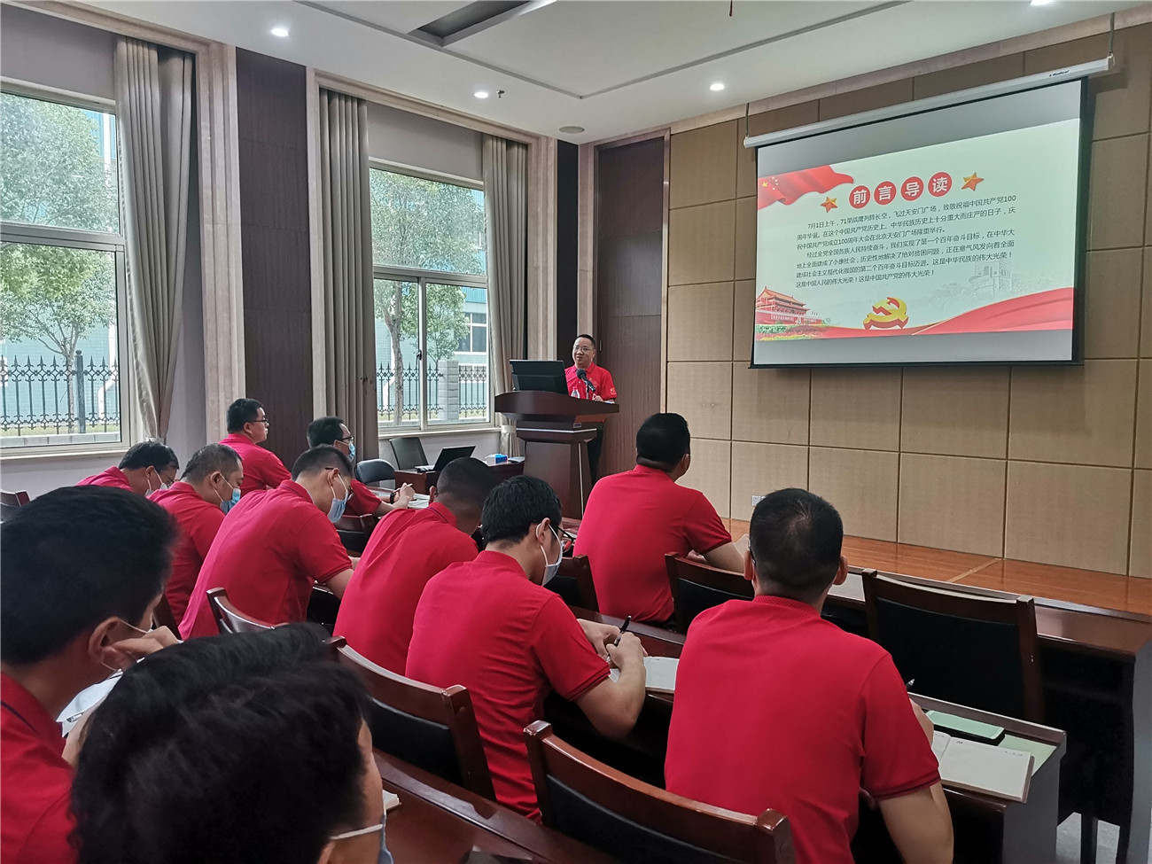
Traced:
<path fill-rule="evenodd" d="M 487 423 L 484 191 L 372 168 L 380 432 Z"/>

